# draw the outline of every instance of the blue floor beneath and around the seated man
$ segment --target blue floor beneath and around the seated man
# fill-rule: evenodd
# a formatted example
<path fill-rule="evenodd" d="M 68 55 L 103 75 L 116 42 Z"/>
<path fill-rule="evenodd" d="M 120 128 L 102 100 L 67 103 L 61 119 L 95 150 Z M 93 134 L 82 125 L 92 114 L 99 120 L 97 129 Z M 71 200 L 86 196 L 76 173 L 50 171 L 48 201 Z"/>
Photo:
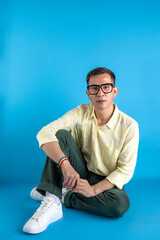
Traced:
<path fill-rule="evenodd" d="M 126 185 L 131 206 L 119 219 L 107 219 L 63 207 L 64 217 L 38 235 L 22 232 L 38 208 L 29 192 L 34 184 L 1 184 L 1 239 L 160 240 L 160 180 L 132 180 Z"/>

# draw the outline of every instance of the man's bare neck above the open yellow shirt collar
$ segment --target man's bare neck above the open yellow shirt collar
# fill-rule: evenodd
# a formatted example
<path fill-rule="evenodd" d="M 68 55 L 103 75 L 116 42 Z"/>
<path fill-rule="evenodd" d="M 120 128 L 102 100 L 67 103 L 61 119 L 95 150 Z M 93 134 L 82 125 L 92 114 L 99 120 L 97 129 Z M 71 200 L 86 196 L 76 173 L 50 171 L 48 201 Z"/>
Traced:
<path fill-rule="evenodd" d="M 111 119 L 111 117 L 114 113 L 114 109 L 115 109 L 115 106 L 113 104 L 107 109 L 95 110 L 95 115 L 97 118 L 98 126 L 105 125 L 105 124 L 107 124 L 107 122 L 109 122 L 109 120 Z"/>

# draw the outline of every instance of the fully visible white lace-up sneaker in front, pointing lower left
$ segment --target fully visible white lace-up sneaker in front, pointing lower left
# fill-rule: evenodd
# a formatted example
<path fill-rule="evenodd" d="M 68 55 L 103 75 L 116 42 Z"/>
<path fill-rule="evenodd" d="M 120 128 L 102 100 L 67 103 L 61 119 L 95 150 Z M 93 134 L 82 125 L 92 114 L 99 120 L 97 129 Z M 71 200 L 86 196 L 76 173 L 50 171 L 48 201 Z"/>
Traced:
<path fill-rule="evenodd" d="M 62 204 L 55 204 L 52 197 L 44 197 L 40 207 L 24 225 L 23 231 L 30 234 L 43 232 L 50 223 L 62 217 Z"/>

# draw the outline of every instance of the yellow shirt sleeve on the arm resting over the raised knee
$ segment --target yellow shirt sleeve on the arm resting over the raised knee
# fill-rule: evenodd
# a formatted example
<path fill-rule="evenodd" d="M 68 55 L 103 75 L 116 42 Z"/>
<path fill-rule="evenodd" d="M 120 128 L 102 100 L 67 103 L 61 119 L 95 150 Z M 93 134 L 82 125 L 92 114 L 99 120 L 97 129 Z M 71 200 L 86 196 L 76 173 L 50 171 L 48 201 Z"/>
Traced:
<path fill-rule="evenodd" d="M 48 142 L 58 141 L 56 137 L 56 132 L 58 130 L 65 129 L 67 131 L 71 131 L 78 120 L 78 116 L 79 108 L 77 107 L 67 112 L 61 118 L 58 118 L 57 120 L 43 127 L 37 134 L 39 147 L 41 148 L 43 144 Z"/>

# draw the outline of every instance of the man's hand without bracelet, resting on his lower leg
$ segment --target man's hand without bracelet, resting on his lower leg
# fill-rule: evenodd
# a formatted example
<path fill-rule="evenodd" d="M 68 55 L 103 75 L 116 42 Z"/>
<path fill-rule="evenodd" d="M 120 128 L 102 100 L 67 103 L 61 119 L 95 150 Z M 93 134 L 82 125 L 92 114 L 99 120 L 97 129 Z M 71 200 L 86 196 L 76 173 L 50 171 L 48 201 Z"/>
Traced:
<path fill-rule="evenodd" d="M 81 179 L 79 184 L 72 190 L 72 192 L 81 193 L 86 197 L 96 196 L 94 186 L 91 186 L 86 179 Z"/>

